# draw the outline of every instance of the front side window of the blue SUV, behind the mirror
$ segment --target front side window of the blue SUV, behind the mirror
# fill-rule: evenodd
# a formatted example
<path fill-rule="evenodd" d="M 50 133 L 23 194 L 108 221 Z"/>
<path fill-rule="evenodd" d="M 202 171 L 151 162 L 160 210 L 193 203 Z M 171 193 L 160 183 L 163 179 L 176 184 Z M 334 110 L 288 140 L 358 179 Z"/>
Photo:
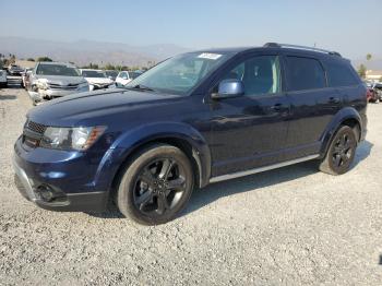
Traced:
<path fill-rule="evenodd" d="M 280 92 L 280 69 L 277 56 L 250 58 L 230 70 L 224 80 L 243 82 L 246 95 L 275 94 Z"/>

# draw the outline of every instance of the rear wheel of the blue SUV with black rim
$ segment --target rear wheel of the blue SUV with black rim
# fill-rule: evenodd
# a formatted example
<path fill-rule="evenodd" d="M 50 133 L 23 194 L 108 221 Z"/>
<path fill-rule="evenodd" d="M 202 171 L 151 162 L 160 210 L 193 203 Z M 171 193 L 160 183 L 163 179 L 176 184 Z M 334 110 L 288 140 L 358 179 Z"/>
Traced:
<path fill-rule="evenodd" d="M 330 175 L 343 175 L 350 169 L 357 148 L 357 134 L 348 126 L 342 126 L 335 133 L 320 170 Z"/>

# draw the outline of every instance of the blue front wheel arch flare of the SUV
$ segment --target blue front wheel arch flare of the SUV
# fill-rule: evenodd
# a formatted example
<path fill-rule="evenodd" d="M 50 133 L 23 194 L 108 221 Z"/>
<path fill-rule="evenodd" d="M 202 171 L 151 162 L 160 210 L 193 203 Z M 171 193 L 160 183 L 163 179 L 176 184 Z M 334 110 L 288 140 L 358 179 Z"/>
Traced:
<path fill-rule="evenodd" d="M 155 122 L 131 129 L 119 135 L 110 146 L 103 162 L 108 164 L 109 158 L 107 157 L 114 157 L 114 160 L 116 160 L 116 156 L 118 156 L 117 165 L 121 166 L 121 164 L 123 164 L 140 146 L 148 142 L 164 139 L 179 139 L 187 141 L 192 146 L 192 154 L 199 166 L 199 186 L 204 187 L 211 176 L 210 147 L 203 135 L 198 130 L 186 123 Z"/>

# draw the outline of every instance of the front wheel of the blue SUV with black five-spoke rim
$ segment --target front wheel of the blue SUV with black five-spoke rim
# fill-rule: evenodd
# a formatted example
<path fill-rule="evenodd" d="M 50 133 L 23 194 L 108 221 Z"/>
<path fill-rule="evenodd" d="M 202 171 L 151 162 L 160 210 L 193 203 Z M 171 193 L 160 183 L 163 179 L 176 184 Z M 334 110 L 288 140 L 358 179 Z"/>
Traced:
<path fill-rule="evenodd" d="M 174 219 L 184 208 L 194 186 L 189 158 L 167 144 L 151 145 L 128 165 L 117 188 L 116 204 L 126 217 L 143 225 Z"/>

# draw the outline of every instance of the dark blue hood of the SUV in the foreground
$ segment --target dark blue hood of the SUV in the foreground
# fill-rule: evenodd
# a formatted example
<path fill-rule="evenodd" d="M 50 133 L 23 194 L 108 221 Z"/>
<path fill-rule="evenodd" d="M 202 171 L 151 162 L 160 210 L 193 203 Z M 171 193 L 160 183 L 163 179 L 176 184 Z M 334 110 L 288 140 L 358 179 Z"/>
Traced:
<path fill-rule="evenodd" d="M 104 120 L 115 120 L 117 114 L 126 116 L 156 105 L 166 105 L 179 95 L 112 88 L 98 92 L 68 95 L 44 103 L 32 109 L 27 117 L 46 126 L 103 124 Z"/>

